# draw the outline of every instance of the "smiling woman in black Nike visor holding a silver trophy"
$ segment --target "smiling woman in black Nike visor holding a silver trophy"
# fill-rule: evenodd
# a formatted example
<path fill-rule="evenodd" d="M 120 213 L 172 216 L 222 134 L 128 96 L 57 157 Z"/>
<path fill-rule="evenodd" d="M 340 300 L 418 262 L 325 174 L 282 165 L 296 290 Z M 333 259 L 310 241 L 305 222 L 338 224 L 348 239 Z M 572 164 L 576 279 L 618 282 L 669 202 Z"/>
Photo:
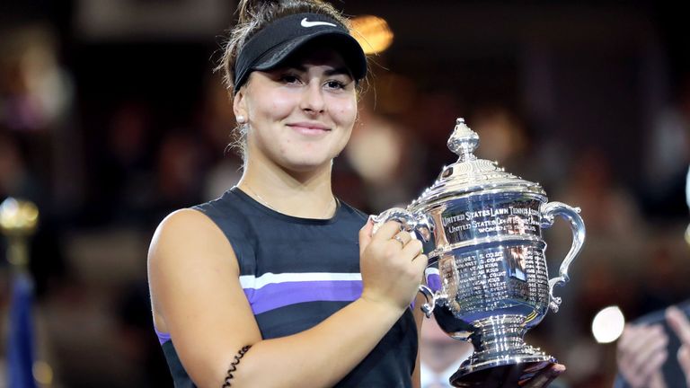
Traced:
<path fill-rule="evenodd" d="M 149 251 L 173 379 L 416 386 L 420 313 L 410 304 L 427 257 L 397 223 L 372 234 L 367 216 L 331 190 L 366 57 L 330 4 L 241 1 L 239 13 L 221 67 L 243 177 L 223 197 L 166 217 Z"/>

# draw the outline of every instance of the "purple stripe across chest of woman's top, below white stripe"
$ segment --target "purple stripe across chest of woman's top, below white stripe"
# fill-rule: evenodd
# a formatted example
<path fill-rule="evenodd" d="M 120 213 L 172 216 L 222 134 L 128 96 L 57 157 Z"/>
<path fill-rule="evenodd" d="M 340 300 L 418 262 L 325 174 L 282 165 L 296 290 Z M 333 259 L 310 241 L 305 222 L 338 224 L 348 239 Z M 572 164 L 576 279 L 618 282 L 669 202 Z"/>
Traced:
<path fill-rule="evenodd" d="M 362 295 L 361 280 L 323 280 L 273 283 L 264 287 L 244 288 L 254 314 L 290 304 L 305 302 L 351 302 Z"/>

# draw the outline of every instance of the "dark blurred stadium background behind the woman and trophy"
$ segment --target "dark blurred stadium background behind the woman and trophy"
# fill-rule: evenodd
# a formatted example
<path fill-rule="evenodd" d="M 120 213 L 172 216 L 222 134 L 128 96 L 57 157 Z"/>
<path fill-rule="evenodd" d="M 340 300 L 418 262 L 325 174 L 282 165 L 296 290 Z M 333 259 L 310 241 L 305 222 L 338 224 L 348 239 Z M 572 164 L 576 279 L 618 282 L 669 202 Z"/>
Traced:
<path fill-rule="evenodd" d="M 611 386 L 615 343 L 594 316 L 626 320 L 685 300 L 690 35 L 658 1 L 348 0 L 371 42 L 360 118 L 334 190 L 369 213 L 409 203 L 456 156 L 455 119 L 477 154 L 582 208 L 586 246 L 564 303 L 527 335 L 568 366 L 560 382 Z M 31 199 L 34 374 L 42 386 L 168 386 L 153 331 L 146 250 L 173 209 L 239 179 L 234 117 L 213 74 L 235 3 L 0 3 L 0 200 Z M 571 232 L 545 232 L 556 273 Z M 5 244 L 4 240 L 0 244 Z M 4 255 L 5 247 L 0 246 Z M 0 386 L 12 270 L 0 260 Z M 459 364 L 459 362 L 458 362 Z"/>

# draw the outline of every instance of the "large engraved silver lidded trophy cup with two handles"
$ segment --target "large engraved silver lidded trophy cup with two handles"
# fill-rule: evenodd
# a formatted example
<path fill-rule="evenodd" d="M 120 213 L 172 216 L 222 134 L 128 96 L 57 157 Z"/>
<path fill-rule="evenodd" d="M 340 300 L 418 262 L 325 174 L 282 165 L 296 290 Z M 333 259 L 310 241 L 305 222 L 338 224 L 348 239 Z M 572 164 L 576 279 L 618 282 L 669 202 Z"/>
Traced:
<path fill-rule="evenodd" d="M 478 159 L 479 136 L 457 119 L 448 148 L 459 156 L 409 207 L 374 217 L 403 223 L 420 236 L 429 256 L 427 284 L 420 286 L 438 325 L 456 340 L 471 341 L 472 357 L 450 377 L 457 387 L 529 380 L 556 359 L 527 345 L 526 331 L 542 321 L 561 298 L 553 287 L 568 281 L 568 268 L 585 239 L 578 207 L 548 202 L 538 183 Z M 542 229 L 555 216 L 568 220 L 571 250 L 559 276 L 549 279 Z M 375 226 L 375 227 L 376 227 Z"/>

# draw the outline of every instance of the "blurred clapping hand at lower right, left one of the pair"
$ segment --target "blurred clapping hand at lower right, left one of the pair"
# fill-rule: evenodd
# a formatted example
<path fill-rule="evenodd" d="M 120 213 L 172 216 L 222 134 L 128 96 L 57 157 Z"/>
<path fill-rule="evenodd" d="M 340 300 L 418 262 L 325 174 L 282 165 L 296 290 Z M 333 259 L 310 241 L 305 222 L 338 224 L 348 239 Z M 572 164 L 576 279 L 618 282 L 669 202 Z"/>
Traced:
<path fill-rule="evenodd" d="M 628 325 L 618 340 L 618 371 L 632 388 L 658 386 L 668 357 L 668 336 L 661 325 Z"/>

